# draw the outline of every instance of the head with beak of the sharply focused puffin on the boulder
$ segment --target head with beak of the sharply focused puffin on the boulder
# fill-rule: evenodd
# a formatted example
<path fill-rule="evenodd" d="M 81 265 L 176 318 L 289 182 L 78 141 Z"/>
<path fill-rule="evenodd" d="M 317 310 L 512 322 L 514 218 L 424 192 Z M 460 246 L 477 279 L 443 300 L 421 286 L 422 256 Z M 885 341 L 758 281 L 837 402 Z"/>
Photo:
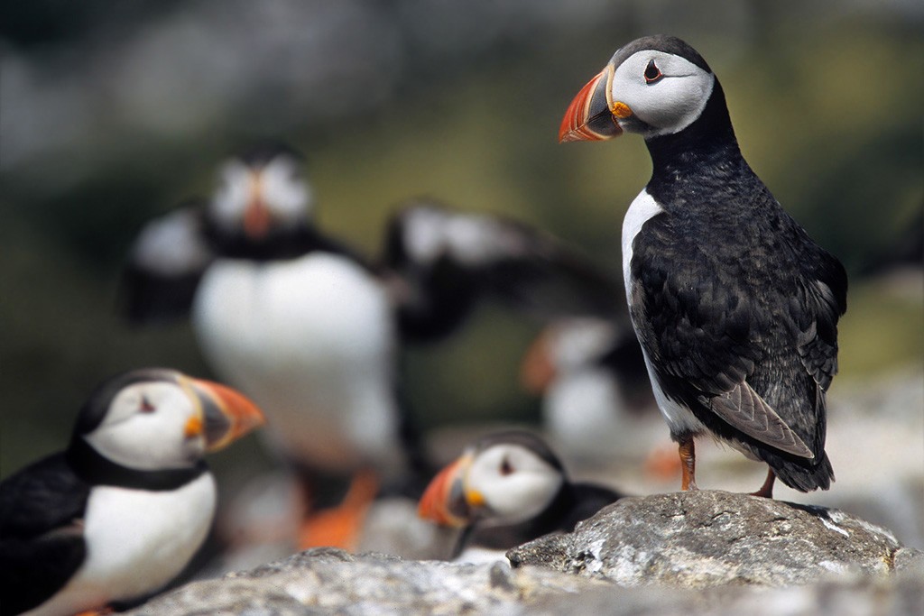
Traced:
<path fill-rule="evenodd" d="M 568 106 L 560 141 L 673 135 L 702 115 L 717 81 L 686 42 L 650 36 L 617 51 Z"/>

